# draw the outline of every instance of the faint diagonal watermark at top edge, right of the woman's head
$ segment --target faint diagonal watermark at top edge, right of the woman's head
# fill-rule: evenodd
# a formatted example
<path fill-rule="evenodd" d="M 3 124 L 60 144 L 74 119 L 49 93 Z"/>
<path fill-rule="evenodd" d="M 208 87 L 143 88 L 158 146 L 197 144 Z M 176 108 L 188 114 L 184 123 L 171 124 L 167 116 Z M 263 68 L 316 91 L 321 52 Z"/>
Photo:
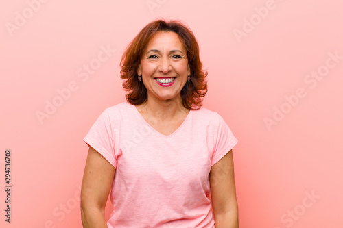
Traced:
<path fill-rule="evenodd" d="M 276 3 L 274 0 L 268 0 L 265 2 L 264 6 L 255 7 L 254 14 L 250 18 L 243 18 L 243 25 L 241 29 L 233 29 L 233 35 L 235 36 L 238 43 L 248 36 L 248 34 L 254 31 L 255 27 L 261 25 L 262 21 L 268 17 L 272 10 L 276 9 Z"/>

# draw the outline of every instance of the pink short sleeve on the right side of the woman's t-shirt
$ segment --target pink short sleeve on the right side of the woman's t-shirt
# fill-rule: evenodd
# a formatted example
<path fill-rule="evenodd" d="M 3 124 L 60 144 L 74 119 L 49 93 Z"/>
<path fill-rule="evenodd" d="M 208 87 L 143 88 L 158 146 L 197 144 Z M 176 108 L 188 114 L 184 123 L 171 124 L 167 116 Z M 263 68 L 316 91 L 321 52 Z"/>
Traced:
<path fill-rule="evenodd" d="M 222 116 L 217 114 L 217 118 L 217 134 L 215 135 L 215 147 L 213 149 L 211 166 L 219 162 L 238 142 Z"/>

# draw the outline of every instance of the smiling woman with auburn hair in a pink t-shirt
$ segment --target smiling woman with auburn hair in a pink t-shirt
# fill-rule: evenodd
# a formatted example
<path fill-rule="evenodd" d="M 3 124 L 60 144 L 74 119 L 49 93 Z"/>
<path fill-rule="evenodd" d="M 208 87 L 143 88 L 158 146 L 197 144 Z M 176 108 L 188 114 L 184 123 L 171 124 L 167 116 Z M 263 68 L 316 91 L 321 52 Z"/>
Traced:
<path fill-rule="evenodd" d="M 238 227 L 237 139 L 201 107 L 206 75 L 178 21 L 153 21 L 132 40 L 121 60 L 128 102 L 106 108 L 84 138 L 84 227 Z"/>

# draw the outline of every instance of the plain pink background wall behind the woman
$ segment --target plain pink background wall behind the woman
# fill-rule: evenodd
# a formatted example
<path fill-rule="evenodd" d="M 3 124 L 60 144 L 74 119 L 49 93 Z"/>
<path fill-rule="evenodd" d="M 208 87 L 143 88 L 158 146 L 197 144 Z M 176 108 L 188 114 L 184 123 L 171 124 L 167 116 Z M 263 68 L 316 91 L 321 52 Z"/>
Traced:
<path fill-rule="evenodd" d="M 343 227 L 342 8 L 336 0 L 1 3 L 0 182 L 12 149 L 13 188 L 10 224 L 1 190 L 0 226 L 82 227 L 82 138 L 125 101 L 121 55 L 163 17 L 193 30 L 209 71 L 204 107 L 239 140 L 240 227 Z M 53 101 L 59 107 L 39 119 Z"/>

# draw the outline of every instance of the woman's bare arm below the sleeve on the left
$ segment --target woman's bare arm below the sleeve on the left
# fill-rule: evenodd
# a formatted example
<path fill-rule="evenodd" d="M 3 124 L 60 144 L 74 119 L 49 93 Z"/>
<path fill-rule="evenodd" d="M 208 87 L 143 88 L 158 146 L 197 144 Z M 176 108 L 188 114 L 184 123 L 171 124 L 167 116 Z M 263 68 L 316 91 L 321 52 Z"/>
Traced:
<path fill-rule="evenodd" d="M 107 228 L 105 206 L 115 167 L 89 147 L 81 188 L 81 218 L 84 228 Z"/>

